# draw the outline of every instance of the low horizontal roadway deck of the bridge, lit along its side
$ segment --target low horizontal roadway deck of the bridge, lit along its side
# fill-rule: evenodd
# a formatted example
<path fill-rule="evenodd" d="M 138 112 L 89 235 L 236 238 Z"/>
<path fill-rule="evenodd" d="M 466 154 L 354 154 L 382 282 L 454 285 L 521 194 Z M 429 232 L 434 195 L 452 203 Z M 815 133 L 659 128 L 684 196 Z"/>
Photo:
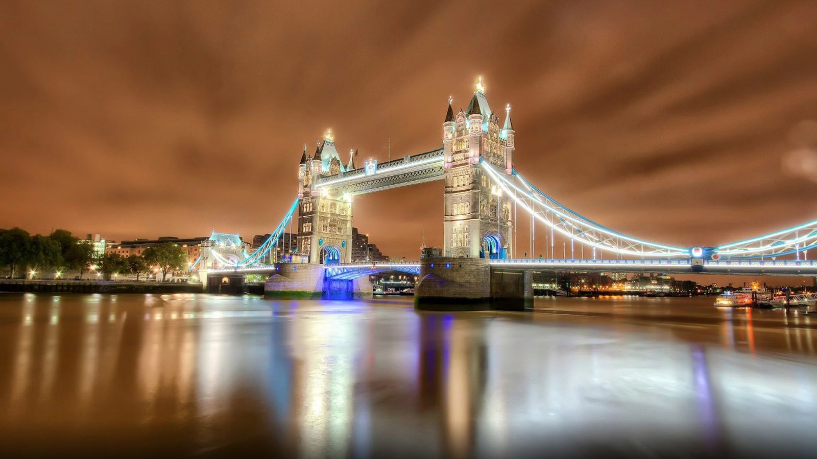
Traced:
<path fill-rule="evenodd" d="M 696 264 L 697 263 L 697 264 Z M 817 275 L 817 261 L 813 260 L 719 260 L 693 261 L 690 259 L 658 259 L 658 260 L 537 260 L 537 259 L 508 259 L 491 260 L 490 264 L 496 267 L 519 268 L 529 270 L 553 271 L 618 271 L 627 273 L 662 272 L 667 274 L 747 274 L 747 275 L 787 275 L 787 276 L 815 276 Z M 358 275 L 374 274 L 387 270 L 398 270 L 410 273 L 419 273 L 420 263 L 411 261 L 406 263 L 372 262 L 350 263 L 327 266 L 328 277 L 346 279 L 355 272 Z M 211 270 L 210 274 L 270 274 L 275 272 L 275 265 L 251 266 L 228 270 Z"/>

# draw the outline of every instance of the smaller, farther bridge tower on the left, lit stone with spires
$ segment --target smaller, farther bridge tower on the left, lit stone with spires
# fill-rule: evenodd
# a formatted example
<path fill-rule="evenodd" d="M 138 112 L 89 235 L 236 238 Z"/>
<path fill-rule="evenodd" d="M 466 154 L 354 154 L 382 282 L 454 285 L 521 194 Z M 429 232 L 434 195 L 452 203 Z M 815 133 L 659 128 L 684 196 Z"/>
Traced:
<path fill-rule="evenodd" d="M 318 142 L 314 156 L 306 145 L 298 164 L 297 254 L 304 263 L 349 263 L 352 259 L 352 198 L 317 188 L 318 180 L 346 172 L 332 131 Z"/>

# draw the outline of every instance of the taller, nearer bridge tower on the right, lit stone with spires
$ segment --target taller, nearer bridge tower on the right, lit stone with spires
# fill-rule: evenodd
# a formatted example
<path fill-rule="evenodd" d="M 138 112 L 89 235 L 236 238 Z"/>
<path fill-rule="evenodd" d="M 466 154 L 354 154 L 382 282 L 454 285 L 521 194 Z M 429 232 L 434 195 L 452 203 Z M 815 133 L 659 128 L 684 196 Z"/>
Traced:
<path fill-rule="evenodd" d="M 505 123 L 485 97 L 482 78 L 468 108 L 455 116 L 452 100 L 443 122 L 445 176 L 444 256 L 511 258 L 512 205 L 480 165 L 480 158 L 511 175 L 514 130 L 511 106 Z"/>

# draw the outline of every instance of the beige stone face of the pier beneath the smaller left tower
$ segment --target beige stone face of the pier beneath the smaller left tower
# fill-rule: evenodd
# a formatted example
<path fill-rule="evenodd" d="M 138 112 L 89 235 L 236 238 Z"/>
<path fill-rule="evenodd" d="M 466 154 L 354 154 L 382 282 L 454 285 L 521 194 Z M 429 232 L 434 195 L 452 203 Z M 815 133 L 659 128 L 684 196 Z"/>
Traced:
<path fill-rule="evenodd" d="M 324 296 L 324 265 L 280 263 L 264 283 L 266 298 L 319 300 Z"/>

